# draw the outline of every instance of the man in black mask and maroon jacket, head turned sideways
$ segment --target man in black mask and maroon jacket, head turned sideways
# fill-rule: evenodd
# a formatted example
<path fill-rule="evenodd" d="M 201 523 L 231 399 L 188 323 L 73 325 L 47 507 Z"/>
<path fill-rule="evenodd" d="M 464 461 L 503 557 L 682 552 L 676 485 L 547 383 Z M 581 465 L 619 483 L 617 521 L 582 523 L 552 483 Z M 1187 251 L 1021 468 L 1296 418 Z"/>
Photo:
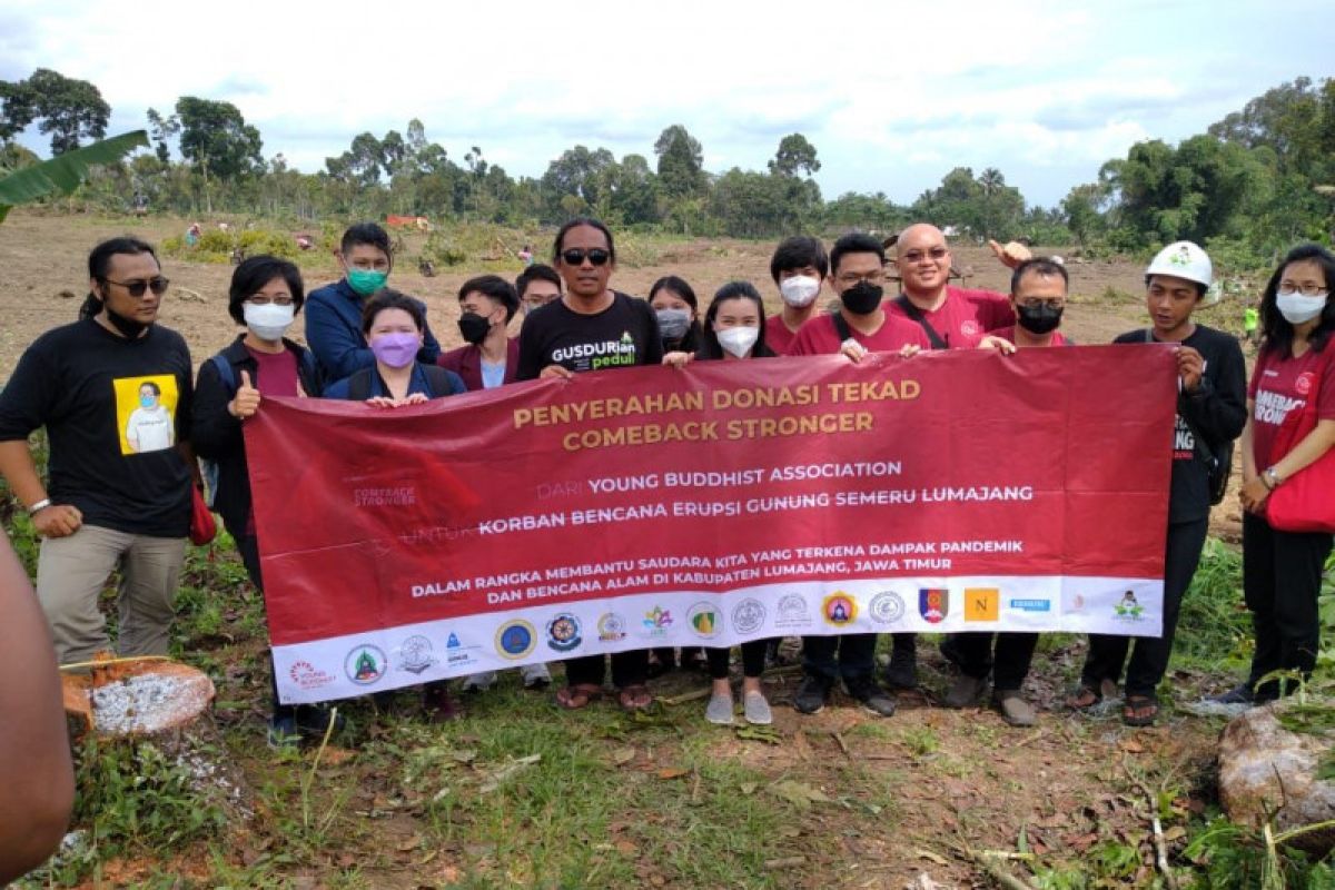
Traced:
<path fill-rule="evenodd" d="M 437 364 L 463 378 L 473 390 L 514 383 L 519 371 L 519 340 L 507 326 L 519 311 L 519 295 L 499 275 L 479 275 L 459 288 L 459 334 L 466 346 L 437 359 Z"/>

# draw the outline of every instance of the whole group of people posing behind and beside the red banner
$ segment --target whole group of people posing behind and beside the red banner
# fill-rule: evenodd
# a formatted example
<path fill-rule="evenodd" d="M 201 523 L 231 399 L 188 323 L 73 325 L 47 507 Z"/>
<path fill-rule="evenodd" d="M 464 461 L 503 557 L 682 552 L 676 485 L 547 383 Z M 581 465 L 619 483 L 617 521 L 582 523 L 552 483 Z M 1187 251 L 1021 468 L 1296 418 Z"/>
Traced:
<path fill-rule="evenodd" d="M 579 217 L 557 232 L 551 266 L 526 266 L 513 283 L 497 275 L 467 280 L 458 291 L 465 346 L 442 351 L 426 306 L 388 287 L 394 256 L 387 234 L 362 223 L 343 235 L 340 279 L 308 295 L 298 268 L 283 259 L 240 263 L 227 307 L 243 331 L 202 364 L 196 379 L 186 342 L 158 323 L 168 280 L 154 248 L 135 238 L 104 242 L 88 258 L 91 291 L 80 319 L 33 342 L 0 392 L 0 474 L 43 538 L 36 590 L 56 655 L 63 663 L 81 662 L 108 647 L 97 599 L 116 568 L 120 652 L 167 651 L 192 488 L 203 484 L 198 458 L 216 464 L 212 507 L 263 591 L 242 430 L 263 411 L 266 398 L 323 396 L 392 410 L 517 380 L 618 367 L 822 354 L 860 362 L 874 351 L 1011 354 L 1069 346 L 1061 332 L 1069 291 L 1064 264 L 1029 256 L 1019 246 L 993 243 L 993 251 L 1012 270 L 1009 294 L 952 284 L 951 248 L 934 226 L 904 230 L 890 258 L 882 242 L 866 234 L 844 235 L 828 252 L 816 238 L 794 236 L 778 244 L 770 262 L 781 312 L 766 315 L 760 290 L 742 280 L 718 288 L 701 312 L 696 292 L 677 276 L 655 282 L 649 299 L 614 290 L 613 232 Z M 893 279 L 900 292 L 888 298 Z M 1171 244 L 1147 268 L 1151 324 L 1117 342 L 1171 343 L 1176 355 L 1176 430 L 1165 443 L 1172 487 L 1163 635 L 1092 636 L 1071 707 L 1088 709 L 1124 693 L 1127 723 L 1156 719 L 1156 689 L 1206 539 L 1211 476 L 1239 436 L 1244 587 L 1256 652 L 1248 681 L 1222 701 L 1271 701 L 1280 694 L 1270 679 L 1275 671 L 1311 673 L 1331 535 L 1272 527 L 1266 504 L 1292 476 L 1330 459 L 1335 444 L 1332 280 L 1335 256 L 1318 246 L 1295 248 L 1275 270 L 1260 298 L 1262 347 L 1248 387 L 1238 340 L 1192 320 L 1212 283 L 1204 251 Z M 826 288 L 837 299 L 830 311 L 822 311 L 818 299 Z M 288 336 L 299 314 L 307 346 Z M 511 336 L 517 316 L 522 326 Z M 1315 411 L 1316 423 L 1280 452 L 1276 434 L 1286 416 L 1300 411 Z M 49 443 L 45 482 L 28 446 L 29 434 L 41 427 Z M 959 677 L 944 703 L 977 706 L 991 689 L 1007 722 L 1032 725 L 1035 707 L 1021 687 L 1036 640 L 1036 634 L 1021 632 L 947 638 L 941 651 Z M 893 690 L 918 682 L 916 643 L 913 634 L 892 635 L 889 663 L 878 678 L 874 634 L 804 638 L 804 678 L 793 706 L 814 714 L 842 683 L 865 709 L 893 714 Z M 741 710 L 753 723 L 772 721 L 760 683 L 765 650 L 764 640 L 741 647 Z M 696 656 L 713 679 L 706 719 L 730 723 L 736 702 L 729 651 L 710 648 Z M 674 658 L 670 650 L 658 655 L 659 663 Z M 601 698 L 607 660 L 621 707 L 647 707 L 650 652 L 643 650 L 567 659 L 557 703 L 578 710 Z M 483 690 L 494 681 L 494 674 L 478 674 L 465 679 L 465 689 Z M 546 666 L 523 671 L 525 686 L 550 682 Z M 423 705 L 435 719 L 455 715 L 445 682 L 423 687 Z M 326 709 L 283 706 L 275 694 L 270 738 L 287 745 L 319 737 L 328 721 Z"/>

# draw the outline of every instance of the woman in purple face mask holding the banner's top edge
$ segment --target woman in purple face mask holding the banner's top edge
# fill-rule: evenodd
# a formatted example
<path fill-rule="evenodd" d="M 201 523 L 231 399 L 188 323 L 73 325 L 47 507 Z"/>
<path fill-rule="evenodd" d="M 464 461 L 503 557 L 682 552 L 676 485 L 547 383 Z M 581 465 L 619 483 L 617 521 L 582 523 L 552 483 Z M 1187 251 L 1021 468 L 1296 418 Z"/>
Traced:
<path fill-rule="evenodd" d="M 362 310 L 362 335 L 375 352 L 375 366 L 330 384 L 324 388 L 324 398 L 398 408 L 466 392 L 467 387 L 454 371 L 417 360 L 425 331 L 426 312 L 421 303 L 388 288 L 378 291 Z M 435 681 L 422 689 L 422 706 L 431 722 L 458 715 L 446 681 Z"/>

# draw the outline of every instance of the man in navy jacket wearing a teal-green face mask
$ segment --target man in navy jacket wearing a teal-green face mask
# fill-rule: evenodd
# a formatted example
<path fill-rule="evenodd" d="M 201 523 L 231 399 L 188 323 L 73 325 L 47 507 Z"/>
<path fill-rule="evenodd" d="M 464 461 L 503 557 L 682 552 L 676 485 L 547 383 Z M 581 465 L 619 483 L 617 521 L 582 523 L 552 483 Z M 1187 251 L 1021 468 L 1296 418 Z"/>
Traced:
<path fill-rule="evenodd" d="M 375 354 L 362 336 L 362 308 L 367 298 L 384 287 L 394 258 L 390 236 L 375 223 L 358 223 L 343 232 L 335 254 L 343 278 L 311 291 L 306 302 L 306 342 L 326 380 L 342 380 L 375 364 Z M 423 318 L 426 304 L 422 304 Z M 421 362 L 434 364 L 441 344 L 425 328 Z"/>

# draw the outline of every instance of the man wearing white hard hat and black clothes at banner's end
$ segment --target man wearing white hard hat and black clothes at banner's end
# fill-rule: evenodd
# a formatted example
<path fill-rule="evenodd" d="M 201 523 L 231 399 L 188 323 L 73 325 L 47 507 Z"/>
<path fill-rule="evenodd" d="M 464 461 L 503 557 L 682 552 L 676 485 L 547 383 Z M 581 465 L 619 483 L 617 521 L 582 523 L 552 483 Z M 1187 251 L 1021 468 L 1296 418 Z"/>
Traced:
<path fill-rule="evenodd" d="M 1214 282 L 1212 271 L 1206 251 L 1191 242 L 1177 242 L 1159 251 L 1145 270 L 1145 304 L 1153 327 L 1113 340 L 1172 343 L 1177 355 L 1163 635 L 1132 642 L 1129 636 L 1092 634 L 1080 689 L 1069 702 L 1072 707 L 1084 709 L 1113 694 L 1125 664 L 1121 718 L 1129 726 L 1148 726 L 1159 715 L 1155 690 L 1168 670 L 1177 611 L 1206 544 L 1210 506 L 1218 503 L 1215 483 L 1227 479 L 1232 440 L 1242 434 L 1247 420 L 1247 368 L 1238 339 L 1191 320 Z"/>

